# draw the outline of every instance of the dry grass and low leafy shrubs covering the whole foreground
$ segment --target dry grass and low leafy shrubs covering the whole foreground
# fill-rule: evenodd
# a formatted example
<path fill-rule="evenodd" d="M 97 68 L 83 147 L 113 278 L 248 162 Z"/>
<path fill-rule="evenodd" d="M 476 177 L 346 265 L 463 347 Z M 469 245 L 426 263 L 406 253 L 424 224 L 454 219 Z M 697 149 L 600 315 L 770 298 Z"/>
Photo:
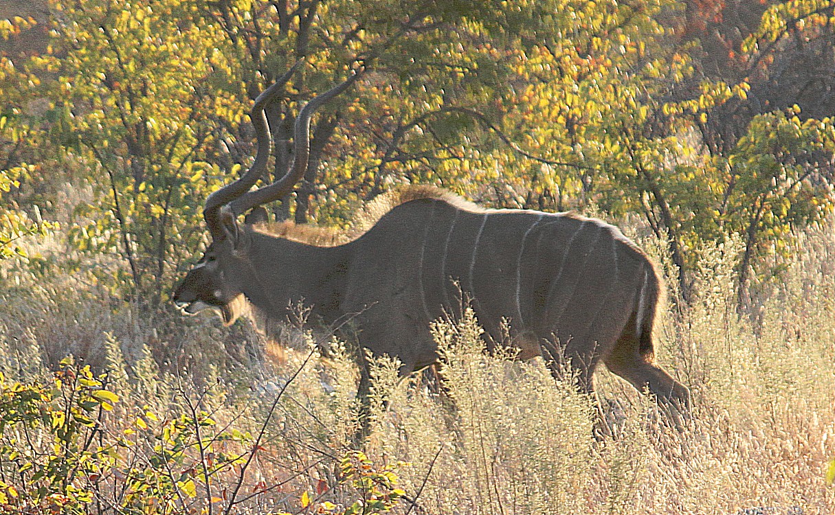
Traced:
<path fill-rule="evenodd" d="M 732 284 L 737 242 L 701 249 L 694 298 L 676 303 L 672 291 L 657 331 L 658 361 L 693 393 L 691 420 L 668 427 L 651 399 L 604 370 L 596 379 L 612 431 L 597 438 L 595 406 L 570 373 L 556 381 L 540 359 L 485 354 L 471 313 L 433 328 L 440 391 L 420 375 L 398 381 L 395 361 L 374 361 L 370 434 L 360 446 L 357 370 L 338 342 L 325 358 L 307 336 L 308 351 L 271 362 L 248 326 L 138 320 L 83 275 L 50 280 L 6 264 L 0 505 L 831 513 L 833 235 L 832 224 L 799 235 L 784 279 L 742 317 Z M 669 269 L 653 251 L 663 245 L 641 245 Z"/>

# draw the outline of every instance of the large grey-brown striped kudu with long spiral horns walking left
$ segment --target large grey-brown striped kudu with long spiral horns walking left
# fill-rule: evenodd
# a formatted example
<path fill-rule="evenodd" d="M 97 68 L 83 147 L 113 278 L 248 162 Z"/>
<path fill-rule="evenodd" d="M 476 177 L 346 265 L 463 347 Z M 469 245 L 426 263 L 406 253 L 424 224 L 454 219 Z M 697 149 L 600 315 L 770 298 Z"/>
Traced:
<path fill-rule="evenodd" d="M 437 361 L 430 323 L 460 311 L 463 293 L 487 345 L 507 336 L 509 322 L 509 344 L 519 359 L 544 356 L 555 375 L 568 363 L 592 395 L 592 375 L 602 360 L 635 388 L 651 391 L 676 418 L 687 409 L 686 386 L 654 361 L 661 289 L 655 267 L 620 230 L 600 220 L 485 210 L 443 190 L 413 187 L 343 245 L 309 245 L 239 225 L 238 215 L 291 192 L 307 167 L 311 114 L 359 76 L 301 109 L 291 169 L 250 191 L 271 149 L 264 108 L 291 73 L 261 93 L 252 108 L 255 163 L 206 200 L 212 243 L 175 292 L 183 311 L 214 308 L 226 324 L 242 313 L 284 321 L 291 306 L 303 302 L 325 324 L 352 320 L 359 346 L 396 356 L 406 376 Z M 359 396 L 368 388 L 367 371 L 361 370 Z"/>

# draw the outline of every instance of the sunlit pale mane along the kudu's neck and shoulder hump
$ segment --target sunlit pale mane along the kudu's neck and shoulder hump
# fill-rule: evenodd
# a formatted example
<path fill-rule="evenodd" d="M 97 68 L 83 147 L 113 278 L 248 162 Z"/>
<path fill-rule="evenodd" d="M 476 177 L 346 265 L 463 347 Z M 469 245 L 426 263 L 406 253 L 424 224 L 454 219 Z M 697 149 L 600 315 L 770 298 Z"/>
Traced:
<path fill-rule="evenodd" d="M 378 195 L 377 198 L 366 204 L 362 210 L 358 211 L 352 217 L 351 228 L 347 230 L 319 227 L 317 225 L 297 225 L 292 221 L 258 224 L 255 225 L 255 229 L 267 235 L 286 238 L 287 240 L 298 241 L 307 245 L 334 247 L 356 240 L 398 205 L 419 199 L 443 200 L 462 210 L 468 210 L 474 213 L 483 213 L 485 211 L 477 204 L 462 199 L 457 194 L 453 194 L 445 189 L 427 185 L 407 185 Z"/>

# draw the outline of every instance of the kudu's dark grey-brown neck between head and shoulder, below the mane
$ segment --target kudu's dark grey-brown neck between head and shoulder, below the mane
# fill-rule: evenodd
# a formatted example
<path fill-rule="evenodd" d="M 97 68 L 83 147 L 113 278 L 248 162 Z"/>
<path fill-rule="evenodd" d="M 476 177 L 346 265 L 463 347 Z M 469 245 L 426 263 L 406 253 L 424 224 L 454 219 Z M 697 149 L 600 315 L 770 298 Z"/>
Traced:
<path fill-rule="evenodd" d="M 338 316 L 347 246 L 317 247 L 256 231 L 251 235 L 251 280 L 243 290 L 252 304 L 281 320 L 300 302 L 326 321 Z"/>

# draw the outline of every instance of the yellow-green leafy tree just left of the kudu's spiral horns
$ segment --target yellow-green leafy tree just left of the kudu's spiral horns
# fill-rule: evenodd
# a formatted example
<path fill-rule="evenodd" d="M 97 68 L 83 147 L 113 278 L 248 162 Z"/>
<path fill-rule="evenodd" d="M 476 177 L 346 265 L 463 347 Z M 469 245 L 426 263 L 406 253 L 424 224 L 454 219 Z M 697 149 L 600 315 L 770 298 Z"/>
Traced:
<path fill-rule="evenodd" d="M 129 264 L 116 285 L 152 307 L 167 298 L 177 249 L 194 248 L 200 204 L 217 182 L 201 161 L 217 144 L 219 123 L 240 105 L 211 88 L 225 58 L 216 31 L 191 3 L 56 4 L 60 53 L 42 68 L 59 74 L 48 98 L 53 139 L 89 163 L 98 188 L 73 225 L 79 250 L 118 252 Z M 99 278 L 107 281 L 107 274 Z"/>

